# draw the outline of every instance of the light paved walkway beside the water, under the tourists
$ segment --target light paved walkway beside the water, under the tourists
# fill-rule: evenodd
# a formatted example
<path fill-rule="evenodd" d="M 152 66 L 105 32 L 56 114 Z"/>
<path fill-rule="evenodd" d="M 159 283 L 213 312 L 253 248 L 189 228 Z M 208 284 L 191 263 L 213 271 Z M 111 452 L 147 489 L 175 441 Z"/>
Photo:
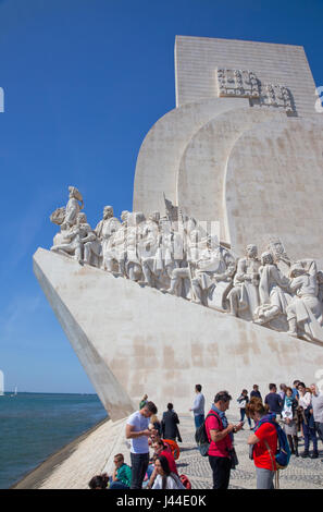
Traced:
<path fill-rule="evenodd" d="M 229 422 L 237 423 L 237 416 L 227 415 Z M 194 489 L 211 489 L 212 474 L 208 458 L 200 455 L 194 440 L 194 419 L 191 416 L 179 416 L 179 430 L 183 438 L 182 452 L 178 459 L 178 472 L 186 474 Z M 250 430 L 235 436 L 235 448 L 239 459 L 237 470 L 232 471 L 231 489 L 256 489 L 256 472 L 253 462 L 248 456 L 247 439 Z M 103 471 L 111 474 L 113 455 L 124 453 L 129 463 L 129 443 L 124 437 L 125 420 L 105 422 L 79 442 L 69 444 L 58 454 L 41 464 L 17 488 L 38 489 L 86 489 L 90 478 Z M 300 451 L 303 446 L 300 443 Z M 323 450 L 319 441 L 320 459 L 296 459 L 287 470 L 279 472 L 282 489 L 319 489 L 323 487 Z M 33 484 L 32 484 L 33 483 Z"/>

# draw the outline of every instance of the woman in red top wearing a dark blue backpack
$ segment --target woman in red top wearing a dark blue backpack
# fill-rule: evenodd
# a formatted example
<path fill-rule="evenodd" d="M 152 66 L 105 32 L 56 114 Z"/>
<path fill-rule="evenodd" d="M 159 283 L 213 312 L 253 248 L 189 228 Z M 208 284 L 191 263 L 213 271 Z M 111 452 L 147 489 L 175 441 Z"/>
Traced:
<path fill-rule="evenodd" d="M 274 489 L 274 476 L 277 470 L 275 453 L 278 440 L 277 430 L 273 425 L 274 415 L 269 414 L 269 406 L 263 405 L 260 400 L 252 400 L 247 404 L 246 410 L 256 423 L 248 444 L 252 447 L 257 489 Z"/>

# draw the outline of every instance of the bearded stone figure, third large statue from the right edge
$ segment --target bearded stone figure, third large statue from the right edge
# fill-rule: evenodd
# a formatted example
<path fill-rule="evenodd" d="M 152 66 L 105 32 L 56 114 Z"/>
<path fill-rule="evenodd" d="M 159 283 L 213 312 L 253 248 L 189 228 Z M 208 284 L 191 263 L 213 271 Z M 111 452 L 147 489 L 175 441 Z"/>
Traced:
<path fill-rule="evenodd" d="M 259 306 L 259 267 L 260 260 L 257 257 L 256 245 L 247 245 L 247 256 L 240 258 L 237 264 L 237 271 L 234 277 L 234 288 L 228 292 L 229 314 L 238 316 L 241 310 L 248 310 L 252 318 L 252 313 Z"/>

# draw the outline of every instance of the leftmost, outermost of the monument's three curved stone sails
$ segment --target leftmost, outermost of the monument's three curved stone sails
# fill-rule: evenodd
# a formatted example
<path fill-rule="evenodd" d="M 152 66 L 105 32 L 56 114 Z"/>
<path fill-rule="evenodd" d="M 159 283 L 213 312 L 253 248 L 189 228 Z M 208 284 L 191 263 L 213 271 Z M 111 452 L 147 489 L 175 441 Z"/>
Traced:
<path fill-rule="evenodd" d="M 136 163 L 134 211 L 164 211 L 163 193 L 174 204 L 183 153 L 190 138 L 211 119 L 227 110 L 248 106 L 244 98 L 213 98 L 185 105 L 159 119 L 146 135 Z"/>

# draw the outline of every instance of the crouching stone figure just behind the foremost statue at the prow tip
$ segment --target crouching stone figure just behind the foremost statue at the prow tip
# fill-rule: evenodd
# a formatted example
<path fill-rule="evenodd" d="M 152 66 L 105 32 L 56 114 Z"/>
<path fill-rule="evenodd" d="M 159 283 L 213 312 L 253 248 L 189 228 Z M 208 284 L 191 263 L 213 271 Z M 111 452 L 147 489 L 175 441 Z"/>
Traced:
<path fill-rule="evenodd" d="M 65 243 L 53 245 L 51 251 L 66 253 L 82 264 L 84 263 L 84 245 L 95 239 L 96 234 L 88 224 L 86 215 L 82 212 L 77 215 L 76 224 L 66 231 Z"/>

